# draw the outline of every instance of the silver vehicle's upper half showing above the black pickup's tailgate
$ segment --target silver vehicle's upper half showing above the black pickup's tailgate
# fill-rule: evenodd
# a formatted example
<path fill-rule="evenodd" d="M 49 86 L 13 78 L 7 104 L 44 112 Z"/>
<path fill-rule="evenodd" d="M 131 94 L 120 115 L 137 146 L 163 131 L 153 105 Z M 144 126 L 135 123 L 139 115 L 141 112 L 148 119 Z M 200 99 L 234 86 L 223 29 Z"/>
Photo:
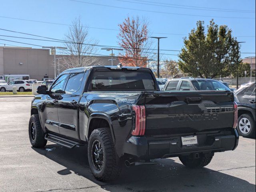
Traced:
<path fill-rule="evenodd" d="M 230 91 L 230 89 L 213 79 L 201 79 L 201 78 L 180 78 L 171 79 L 164 85 L 164 91 Z"/>

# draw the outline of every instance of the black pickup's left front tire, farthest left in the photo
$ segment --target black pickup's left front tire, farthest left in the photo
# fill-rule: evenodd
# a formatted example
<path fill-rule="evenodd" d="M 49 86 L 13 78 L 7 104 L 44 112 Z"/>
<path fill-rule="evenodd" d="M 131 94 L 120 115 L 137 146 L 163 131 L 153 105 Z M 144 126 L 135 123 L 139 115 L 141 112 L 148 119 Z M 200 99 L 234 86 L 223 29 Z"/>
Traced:
<path fill-rule="evenodd" d="M 30 117 L 28 124 L 28 135 L 30 143 L 35 148 L 43 148 L 46 146 L 47 140 L 44 139 L 45 133 L 42 130 L 38 114 Z"/>

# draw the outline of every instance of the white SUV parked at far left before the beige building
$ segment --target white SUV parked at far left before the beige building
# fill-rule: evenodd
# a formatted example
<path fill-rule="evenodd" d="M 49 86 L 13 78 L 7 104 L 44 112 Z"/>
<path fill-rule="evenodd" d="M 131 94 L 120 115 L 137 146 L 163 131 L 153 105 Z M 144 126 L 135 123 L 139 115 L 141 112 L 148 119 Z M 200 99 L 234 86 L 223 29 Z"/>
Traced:
<path fill-rule="evenodd" d="M 27 80 L 14 80 L 6 85 L 0 85 L 0 92 L 12 91 L 13 87 L 17 87 L 19 92 L 32 90 L 32 84 Z"/>

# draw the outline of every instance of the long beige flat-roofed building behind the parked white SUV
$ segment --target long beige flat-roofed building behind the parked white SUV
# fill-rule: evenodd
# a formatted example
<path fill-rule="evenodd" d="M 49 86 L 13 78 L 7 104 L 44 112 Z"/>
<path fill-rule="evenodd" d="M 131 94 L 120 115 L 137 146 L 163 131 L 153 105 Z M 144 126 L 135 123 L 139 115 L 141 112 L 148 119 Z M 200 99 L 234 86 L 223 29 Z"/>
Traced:
<path fill-rule="evenodd" d="M 63 56 L 56 55 L 56 58 Z M 100 65 L 111 65 L 110 56 L 97 56 L 97 58 Z M 118 59 L 113 60 L 113 65 L 117 65 L 118 62 Z M 58 60 L 56 60 L 56 74 L 58 75 L 57 69 Z M 37 80 L 54 78 L 54 55 L 50 55 L 50 49 L 0 47 L 0 75 L 6 74 L 26 74 L 30 75 L 30 79 Z"/>

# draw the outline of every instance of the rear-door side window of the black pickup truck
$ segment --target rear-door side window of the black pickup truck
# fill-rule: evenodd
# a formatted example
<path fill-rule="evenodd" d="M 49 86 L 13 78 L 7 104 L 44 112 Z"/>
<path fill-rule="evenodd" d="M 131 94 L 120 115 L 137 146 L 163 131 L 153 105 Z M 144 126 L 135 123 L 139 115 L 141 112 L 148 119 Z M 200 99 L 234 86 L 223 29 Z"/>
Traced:
<path fill-rule="evenodd" d="M 84 73 L 72 73 L 68 78 L 68 82 L 66 84 L 65 92 L 66 94 L 72 94 L 79 90 L 82 80 L 84 77 Z"/>

